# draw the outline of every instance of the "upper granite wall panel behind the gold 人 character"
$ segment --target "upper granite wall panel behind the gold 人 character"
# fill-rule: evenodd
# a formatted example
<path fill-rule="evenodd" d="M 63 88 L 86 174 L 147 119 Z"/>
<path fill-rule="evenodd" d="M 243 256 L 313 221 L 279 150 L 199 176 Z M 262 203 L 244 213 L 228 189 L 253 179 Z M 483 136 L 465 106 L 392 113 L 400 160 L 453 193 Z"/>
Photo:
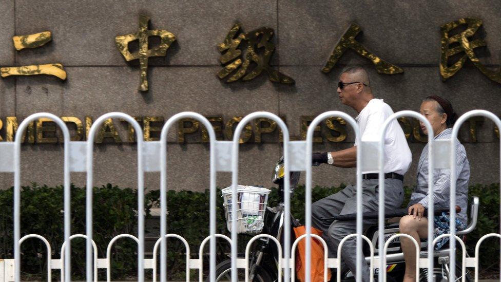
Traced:
<path fill-rule="evenodd" d="M 479 48 L 479 56 L 486 57 L 481 59 L 486 64 L 499 64 L 500 11 L 499 1 L 278 0 L 280 64 L 323 66 L 342 34 L 357 23 L 362 28 L 357 40 L 383 60 L 397 65 L 438 65 L 440 26 L 462 17 L 484 21 L 479 35 L 488 48 Z M 345 64 L 361 61 L 352 52 L 345 57 Z"/>

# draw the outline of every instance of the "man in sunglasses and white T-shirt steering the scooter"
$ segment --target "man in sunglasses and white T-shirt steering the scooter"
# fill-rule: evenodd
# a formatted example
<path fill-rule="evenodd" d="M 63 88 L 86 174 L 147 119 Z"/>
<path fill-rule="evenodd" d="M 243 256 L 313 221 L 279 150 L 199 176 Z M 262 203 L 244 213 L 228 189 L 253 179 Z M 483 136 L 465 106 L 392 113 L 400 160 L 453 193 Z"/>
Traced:
<path fill-rule="evenodd" d="M 357 124 L 362 141 L 379 141 L 382 125 L 393 114 L 391 107 L 381 99 L 375 99 L 367 72 L 361 67 L 344 69 L 339 78 L 337 93 L 341 103 L 357 111 Z M 313 154 L 314 163 L 327 163 L 338 167 L 357 166 L 357 143 L 351 148 L 336 152 Z M 384 137 L 384 185 L 386 209 L 399 208 L 403 201 L 403 175 L 409 169 L 411 151 L 403 130 L 394 120 Z M 362 171 L 363 212 L 378 210 L 378 171 Z M 313 227 L 323 232 L 329 246 L 329 257 L 336 257 L 339 242 L 346 235 L 356 233 L 355 221 L 328 222 L 322 218 L 353 214 L 357 211 L 356 185 L 346 186 L 342 191 L 325 197 L 312 205 Z M 373 224 L 375 220 L 364 220 Z M 346 241 L 342 248 L 342 260 L 356 272 L 355 238 Z M 363 281 L 369 281 L 369 267 L 362 262 Z"/>

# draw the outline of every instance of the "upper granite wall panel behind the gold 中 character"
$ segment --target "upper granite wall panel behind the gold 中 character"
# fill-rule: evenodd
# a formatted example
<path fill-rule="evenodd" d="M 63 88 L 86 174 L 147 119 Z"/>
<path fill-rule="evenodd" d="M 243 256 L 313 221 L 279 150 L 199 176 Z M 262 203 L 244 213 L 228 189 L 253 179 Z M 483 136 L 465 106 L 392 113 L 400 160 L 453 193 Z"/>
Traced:
<path fill-rule="evenodd" d="M 151 27 L 174 33 L 177 43 L 157 65 L 218 65 L 217 45 L 236 21 L 244 31 L 268 26 L 276 29 L 277 3 L 259 1 L 22 1 L 16 2 L 16 32 L 51 30 L 50 46 L 27 50 L 19 61 L 65 65 L 126 65 L 115 47 L 117 35 L 136 33 L 139 15 Z M 26 20 L 28 19 L 29 20 Z M 75 20 L 76 19 L 76 20 Z"/>

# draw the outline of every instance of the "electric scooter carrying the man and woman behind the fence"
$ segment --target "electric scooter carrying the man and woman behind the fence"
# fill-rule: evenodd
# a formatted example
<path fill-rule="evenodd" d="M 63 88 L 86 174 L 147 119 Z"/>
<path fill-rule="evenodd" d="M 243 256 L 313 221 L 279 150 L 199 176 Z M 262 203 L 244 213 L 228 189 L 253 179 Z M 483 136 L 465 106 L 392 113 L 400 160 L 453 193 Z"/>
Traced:
<path fill-rule="evenodd" d="M 294 189 L 297 186 L 299 181 L 299 172 L 291 172 L 290 176 L 290 193 L 291 198 L 294 194 Z M 277 238 L 283 246 L 283 235 L 284 235 L 284 217 L 289 216 L 291 219 L 291 230 L 294 227 L 298 227 L 300 224 L 299 220 L 294 218 L 292 214 L 285 215 L 284 213 L 284 189 L 283 189 L 283 160 L 277 162 L 274 170 L 273 182 L 278 184 L 278 196 L 279 201 L 276 206 L 266 207 L 266 213 L 263 220 L 263 234 L 269 234 L 273 237 Z M 465 235 L 472 232 L 475 229 L 477 218 L 478 218 L 478 197 L 473 198 L 473 203 L 470 206 L 469 213 L 469 224 L 468 227 L 463 231 L 456 232 L 456 235 L 461 239 L 465 239 Z M 446 211 L 446 210 L 443 210 Z M 447 210 L 448 211 L 448 210 Z M 436 214 L 441 214 L 442 210 L 435 211 Z M 407 209 L 401 209 L 400 213 L 398 211 L 392 211 L 388 217 L 386 217 L 386 224 L 384 225 L 384 237 L 381 242 L 378 237 L 378 227 L 377 225 L 373 225 L 364 232 L 364 235 L 371 239 L 371 242 L 374 246 L 374 257 L 378 258 L 379 253 L 379 244 L 384 244 L 391 236 L 397 234 L 399 232 L 398 229 L 398 217 L 407 215 Z M 330 220 L 354 220 L 356 218 L 356 214 L 350 215 L 341 215 L 337 217 L 333 217 Z M 364 213 L 364 219 L 377 218 L 377 212 Z M 329 219 L 326 219 L 329 220 Z M 291 232 L 291 242 L 295 240 L 294 232 Z M 421 252 L 420 257 L 426 258 L 428 256 L 427 251 L 428 244 L 426 241 L 421 242 Z M 370 261 L 370 249 L 367 244 L 363 246 L 363 254 L 365 256 L 365 260 Z M 244 254 L 239 255 L 240 258 L 244 258 Z M 449 246 L 446 244 L 440 250 L 435 250 L 434 252 L 434 266 L 433 273 L 429 274 L 427 268 L 422 268 L 419 279 L 420 281 L 428 281 L 428 275 L 433 275 L 435 281 L 457 281 L 461 278 L 461 268 L 460 264 L 456 264 L 456 277 L 455 279 L 449 279 L 449 269 L 448 264 L 450 261 L 449 258 Z M 394 238 L 389 245 L 387 251 L 387 266 L 385 271 L 387 272 L 388 281 L 395 280 L 401 281 L 403 279 L 404 271 L 405 271 L 405 261 L 403 259 L 403 253 L 400 248 L 400 238 Z M 249 281 L 260 281 L 260 282 L 271 282 L 278 281 L 278 271 L 282 271 L 278 269 L 278 261 L 279 254 L 278 249 L 275 243 L 269 238 L 260 238 L 257 242 L 253 244 L 253 249 L 251 252 L 251 256 L 249 258 Z M 344 268 L 341 270 L 341 281 L 355 281 L 355 275 L 348 268 Z M 378 277 L 379 273 L 378 266 L 374 266 L 374 277 L 375 280 Z M 291 275 L 296 275 L 294 272 Z M 466 281 L 471 281 L 470 274 L 467 273 Z M 239 269 L 239 279 L 243 280 L 243 269 Z M 336 275 L 333 273 L 331 281 L 335 281 Z M 224 261 L 221 261 L 216 266 L 216 280 L 217 281 L 230 281 L 231 280 L 231 260 L 228 258 Z M 296 277 L 297 280 L 297 277 Z M 208 281 L 208 280 L 207 280 Z"/>

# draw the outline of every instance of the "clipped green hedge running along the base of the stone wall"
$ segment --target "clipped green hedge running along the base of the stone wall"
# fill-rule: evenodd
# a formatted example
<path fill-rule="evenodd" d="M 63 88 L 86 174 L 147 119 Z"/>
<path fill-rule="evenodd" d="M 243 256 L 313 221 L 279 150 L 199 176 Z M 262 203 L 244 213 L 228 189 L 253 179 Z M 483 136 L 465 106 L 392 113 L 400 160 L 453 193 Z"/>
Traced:
<path fill-rule="evenodd" d="M 318 200 L 325 196 L 340 191 L 344 185 L 339 187 L 320 187 L 313 189 L 312 199 Z M 406 187 L 407 204 L 412 189 Z M 467 248 L 470 254 L 474 254 L 474 244 L 478 239 L 488 233 L 499 232 L 499 184 L 472 185 L 470 186 L 470 196 L 480 198 L 480 211 L 478 225 L 474 232 L 468 235 Z M 93 190 L 93 238 L 98 246 L 99 257 L 105 257 L 106 247 L 109 240 L 122 233 L 136 235 L 137 227 L 137 191 L 129 188 L 121 189 L 117 186 L 107 184 L 101 187 L 94 187 Z M 160 193 L 158 190 L 145 194 L 146 217 L 150 216 L 152 206 L 159 204 Z M 273 189 L 269 204 L 271 206 L 277 202 L 276 189 Z M 209 233 L 209 192 L 191 191 L 168 191 L 167 192 L 167 232 L 183 236 L 189 243 L 191 253 L 198 256 L 200 242 Z M 0 257 L 12 258 L 12 211 L 13 211 L 13 190 L 0 190 Z M 21 232 L 22 236 L 29 233 L 40 234 L 51 243 L 52 256 L 60 257 L 60 248 L 63 242 L 63 187 L 48 187 L 32 184 L 22 187 L 21 192 Z M 291 199 L 293 215 L 304 222 L 304 186 L 297 187 Z M 72 210 L 72 234 L 85 234 L 85 187 L 71 187 L 71 210 Z M 224 211 L 222 208 L 222 198 L 217 197 L 217 232 L 228 234 Z M 158 230 L 153 231 L 158 234 Z M 240 240 L 240 249 L 248 237 Z M 494 242 L 494 239 L 490 239 Z M 168 279 L 184 279 L 185 265 L 184 245 L 178 240 L 168 242 Z M 207 245 L 208 248 L 208 245 Z M 75 239 L 72 241 L 72 272 L 74 278 L 81 278 L 85 272 L 85 241 Z M 483 267 L 490 267 L 494 257 L 498 257 L 499 244 L 488 243 L 481 249 L 480 262 Z M 23 275 L 45 274 L 46 251 L 39 240 L 31 239 L 23 243 L 22 246 Z M 146 250 L 150 251 L 150 250 Z M 224 257 L 228 252 L 228 246 L 224 242 L 218 242 L 218 257 Z M 41 259 L 41 257 L 43 257 Z M 133 277 L 137 271 L 137 246 L 131 240 L 121 240 L 113 248 L 112 277 L 113 279 L 125 279 Z M 207 260 L 205 260 L 207 261 Z M 100 271 L 100 279 L 105 278 L 104 272 Z M 150 273 L 147 272 L 150 275 Z M 59 273 L 53 273 L 57 277 Z M 40 275 L 38 275 L 40 276 Z M 24 276 L 25 277 L 25 276 Z M 36 275 L 35 275 L 36 277 Z M 42 276 L 43 277 L 43 276 Z M 194 276 L 192 276 L 194 277 Z"/>

